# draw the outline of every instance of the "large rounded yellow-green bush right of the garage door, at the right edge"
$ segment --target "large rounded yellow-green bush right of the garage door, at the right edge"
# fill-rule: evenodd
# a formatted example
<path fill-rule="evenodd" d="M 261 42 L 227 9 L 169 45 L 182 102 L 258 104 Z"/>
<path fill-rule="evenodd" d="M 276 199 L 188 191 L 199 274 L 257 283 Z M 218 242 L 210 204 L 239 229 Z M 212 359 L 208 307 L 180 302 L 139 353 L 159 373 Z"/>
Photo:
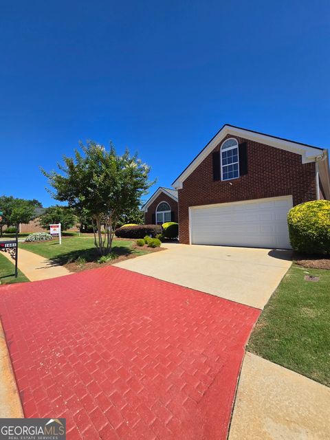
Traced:
<path fill-rule="evenodd" d="M 287 214 L 292 248 L 305 254 L 330 254 L 330 201 L 294 206 Z"/>

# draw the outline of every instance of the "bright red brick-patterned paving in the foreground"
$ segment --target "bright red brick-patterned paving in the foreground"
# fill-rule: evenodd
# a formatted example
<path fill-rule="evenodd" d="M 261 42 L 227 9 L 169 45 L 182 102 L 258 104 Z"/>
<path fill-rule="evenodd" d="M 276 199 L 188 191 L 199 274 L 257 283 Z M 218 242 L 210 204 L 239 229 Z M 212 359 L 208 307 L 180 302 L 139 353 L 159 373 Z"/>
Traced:
<path fill-rule="evenodd" d="M 225 439 L 260 311 L 118 267 L 0 287 L 25 417 L 67 439 Z"/>

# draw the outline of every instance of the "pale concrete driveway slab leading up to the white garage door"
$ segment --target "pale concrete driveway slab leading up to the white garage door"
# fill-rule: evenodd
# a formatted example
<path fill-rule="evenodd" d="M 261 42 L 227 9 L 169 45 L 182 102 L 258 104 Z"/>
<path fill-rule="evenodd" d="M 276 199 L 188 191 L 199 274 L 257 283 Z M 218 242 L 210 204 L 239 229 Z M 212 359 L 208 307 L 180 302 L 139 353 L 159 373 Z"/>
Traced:
<path fill-rule="evenodd" d="M 164 251 L 116 266 L 263 309 L 291 265 L 290 251 L 180 244 L 164 247 Z"/>

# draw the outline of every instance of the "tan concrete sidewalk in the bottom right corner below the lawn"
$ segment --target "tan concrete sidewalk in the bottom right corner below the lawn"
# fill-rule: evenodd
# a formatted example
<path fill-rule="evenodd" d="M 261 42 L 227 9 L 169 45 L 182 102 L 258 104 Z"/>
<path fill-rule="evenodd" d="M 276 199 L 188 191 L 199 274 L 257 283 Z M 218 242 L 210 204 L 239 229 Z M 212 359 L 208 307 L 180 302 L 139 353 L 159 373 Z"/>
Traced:
<path fill-rule="evenodd" d="M 330 388 L 246 353 L 228 440 L 330 438 Z"/>

